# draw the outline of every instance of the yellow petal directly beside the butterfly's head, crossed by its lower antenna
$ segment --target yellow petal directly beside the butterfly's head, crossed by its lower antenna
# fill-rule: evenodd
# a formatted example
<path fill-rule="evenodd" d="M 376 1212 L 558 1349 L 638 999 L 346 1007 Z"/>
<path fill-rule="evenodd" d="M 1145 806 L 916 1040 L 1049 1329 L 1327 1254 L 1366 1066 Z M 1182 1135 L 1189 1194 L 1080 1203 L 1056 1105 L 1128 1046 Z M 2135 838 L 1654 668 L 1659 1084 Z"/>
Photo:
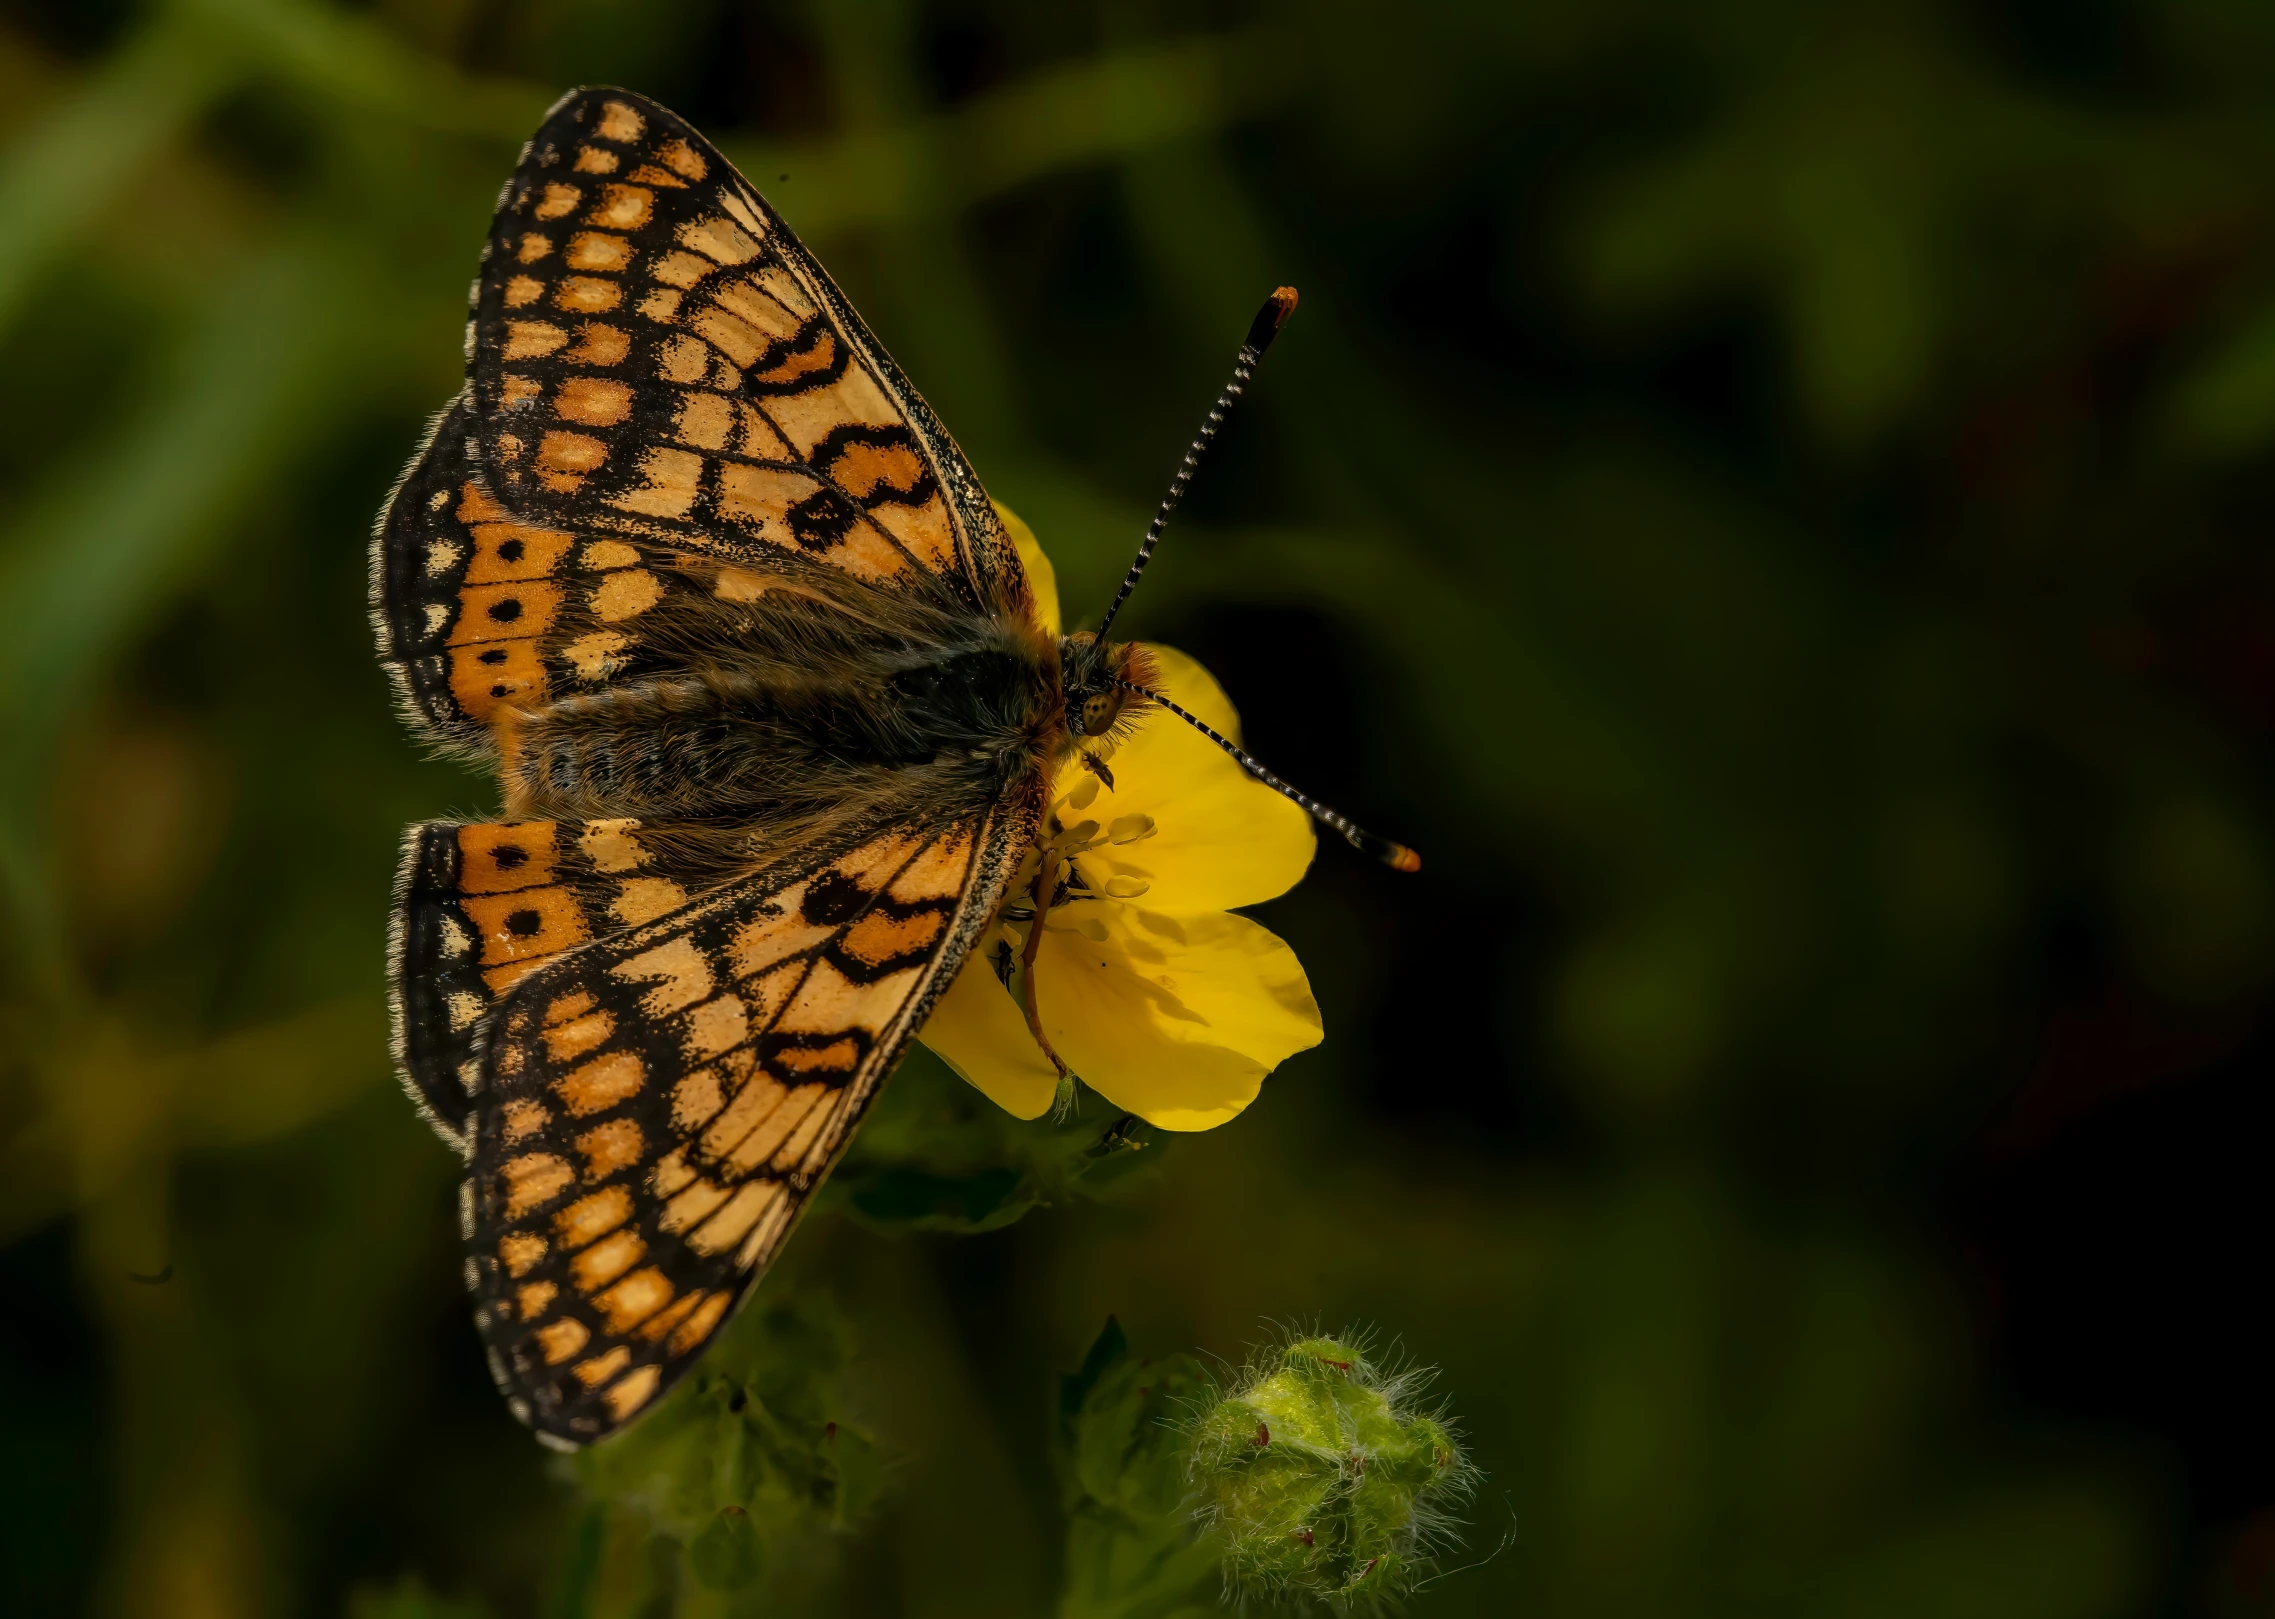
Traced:
<path fill-rule="evenodd" d="M 1219 732 L 1240 734 L 1231 698 L 1206 669 L 1167 646 L 1147 650 L 1160 669 L 1163 696 Z M 1083 819 L 1122 823 L 1147 814 L 1158 830 L 1083 855 L 1083 880 L 1099 891 L 1115 878 L 1144 882 L 1147 910 L 1192 916 L 1258 905 L 1292 889 L 1320 846 L 1308 814 L 1165 709 L 1138 721 L 1115 748 L 1112 771 L 1112 791 L 1099 794 Z"/>

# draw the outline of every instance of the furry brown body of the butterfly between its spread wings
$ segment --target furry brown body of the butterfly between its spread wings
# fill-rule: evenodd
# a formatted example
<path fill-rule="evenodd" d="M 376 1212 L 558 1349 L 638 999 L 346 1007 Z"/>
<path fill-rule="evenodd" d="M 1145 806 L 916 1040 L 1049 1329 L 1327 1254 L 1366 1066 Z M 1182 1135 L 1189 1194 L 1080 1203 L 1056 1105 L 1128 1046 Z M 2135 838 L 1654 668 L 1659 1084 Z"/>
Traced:
<path fill-rule="evenodd" d="M 1072 744 L 1060 644 L 1026 600 L 974 616 L 946 589 L 826 575 L 733 600 L 717 564 L 671 562 L 676 589 L 644 616 L 657 669 L 505 728 L 507 814 L 664 821 L 726 873 L 1019 798 Z"/>

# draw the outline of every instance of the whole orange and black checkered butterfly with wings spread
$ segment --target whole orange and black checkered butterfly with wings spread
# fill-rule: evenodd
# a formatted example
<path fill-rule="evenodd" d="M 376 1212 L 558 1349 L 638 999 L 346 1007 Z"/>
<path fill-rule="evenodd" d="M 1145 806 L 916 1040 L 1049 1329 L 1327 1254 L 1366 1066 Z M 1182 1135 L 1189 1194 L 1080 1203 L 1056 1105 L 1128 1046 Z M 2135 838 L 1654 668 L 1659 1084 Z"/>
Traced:
<path fill-rule="evenodd" d="M 503 789 L 405 839 L 396 1057 L 469 1164 L 498 1385 L 578 1446 L 748 1294 L 1053 771 L 1158 698 L 1106 625 L 1042 628 L 971 466 L 764 198 L 612 89 L 557 102 L 500 196 L 371 593 L 410 723 Z"/>

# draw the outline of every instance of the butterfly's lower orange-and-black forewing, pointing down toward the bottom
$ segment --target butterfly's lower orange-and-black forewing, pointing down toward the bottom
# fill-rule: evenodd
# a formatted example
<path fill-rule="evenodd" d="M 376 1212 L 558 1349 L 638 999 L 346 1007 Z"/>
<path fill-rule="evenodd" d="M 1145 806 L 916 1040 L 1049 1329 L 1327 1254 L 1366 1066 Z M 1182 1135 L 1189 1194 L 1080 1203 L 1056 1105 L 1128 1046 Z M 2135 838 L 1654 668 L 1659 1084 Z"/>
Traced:
<path fill-rule="evenodd" d="M 539 1435 L 598 1439 L 694 1362 L 953 980 L 1031 814 L 789 860 L 505 991 L 471 1107 L 469 1280 Z"/>

